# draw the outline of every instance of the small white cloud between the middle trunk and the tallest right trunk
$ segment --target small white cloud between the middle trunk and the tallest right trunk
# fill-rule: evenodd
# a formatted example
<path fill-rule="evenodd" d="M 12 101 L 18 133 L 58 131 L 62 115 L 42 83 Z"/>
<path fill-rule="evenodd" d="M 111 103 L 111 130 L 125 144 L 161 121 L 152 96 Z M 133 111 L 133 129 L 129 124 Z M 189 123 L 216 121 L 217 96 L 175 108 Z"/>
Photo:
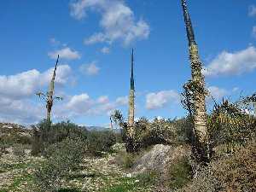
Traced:
<path fill-rule="evenodd" d="M 162 90 L 156 93 L 148 93 L 146 96 L 146 108 L 164 108 L 169 102 L 179 102 L 180 96 L 175 90 Z"/>

